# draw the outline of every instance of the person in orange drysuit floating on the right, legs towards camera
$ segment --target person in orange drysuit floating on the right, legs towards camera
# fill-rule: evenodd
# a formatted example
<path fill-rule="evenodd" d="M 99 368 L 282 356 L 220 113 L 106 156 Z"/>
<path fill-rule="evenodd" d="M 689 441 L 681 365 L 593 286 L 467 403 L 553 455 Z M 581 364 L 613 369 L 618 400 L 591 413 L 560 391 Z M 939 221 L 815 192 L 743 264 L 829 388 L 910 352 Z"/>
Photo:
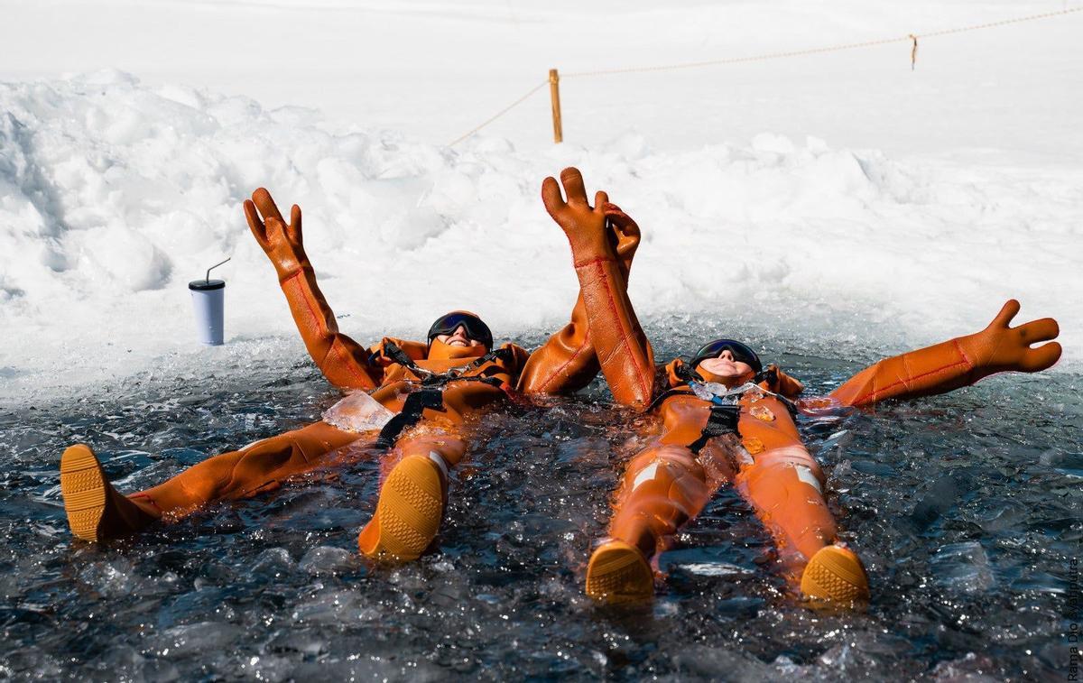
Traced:
<path fill-rule="evenodd" d="M 733 340 L 716 340 L 690 364 L 677 359 L 657 371 L 653 352 L 628 300 L 626 280 L 606 239 L 604 195 L 587 203 L 574 169 L 553 179 L 543 199 L 572 245 L 587 320 L 614 398 L 661 418 L 661 433 L 625 468 L 614 499 L 609 538 L 587 566 L 586 591 L 603 602 L 654 595 L 652 559 L 695 517 L 714 492 L 732 483 L 779 547 L 784 573 L 815 602 L 851 604 L 869 596 L 857 554 L 838 541 L 824 502 L 824 475 L 801 443 L 795 413 L 831 406 L 872 406 L 971 384 L 994 372 L 1035 372 L 1060 357 L 1052 318 L 1012 328 L 1019 311 L 1008 301 L 984 330 L 880 360 L 826 398 L 798 400 L 803 385 Z M 625 214 L 612 216 L 638 234 Z M 795 404 L 794 402 L 797 400 Z"/>

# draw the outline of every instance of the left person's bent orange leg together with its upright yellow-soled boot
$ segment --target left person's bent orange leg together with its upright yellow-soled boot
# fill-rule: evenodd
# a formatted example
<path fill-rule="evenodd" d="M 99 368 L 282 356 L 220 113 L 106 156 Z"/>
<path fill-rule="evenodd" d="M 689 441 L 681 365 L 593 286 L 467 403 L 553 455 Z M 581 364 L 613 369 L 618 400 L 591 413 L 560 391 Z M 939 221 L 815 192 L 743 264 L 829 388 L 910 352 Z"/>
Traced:
<path fill-rule="evenodd" d="M 447 504 L 447 470 L 466 454 L 457 426 L 421 423 L 406 432 L 382 463 L 376 515 L 357 548 L 377 560 L 416 560 L 440 530 Z"/>

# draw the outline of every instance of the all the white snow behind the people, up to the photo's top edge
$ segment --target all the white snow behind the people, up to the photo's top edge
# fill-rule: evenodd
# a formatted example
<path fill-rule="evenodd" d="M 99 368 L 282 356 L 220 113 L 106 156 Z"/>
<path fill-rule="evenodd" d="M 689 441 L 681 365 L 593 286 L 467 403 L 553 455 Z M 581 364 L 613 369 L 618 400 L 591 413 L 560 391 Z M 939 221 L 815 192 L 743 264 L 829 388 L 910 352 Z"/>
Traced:
<path fill-rule="evenodd" d="M 467 307 L 550 329 L 575 277 L 538 188 L 569 165 L 643 227 L 644 317 L 709 312 L 901 351 L 1009 297 L 1083 360 L 1083 12 L 818 56 L 572 74 L 904 36 L 1056 2 L 525 5 L 0 1 L 0 397 L 303 349 L 240 202 L 305 212 L 358 341 Z M 186 285 L 222 260 L 226 339 Z M 732 321 L 736 323 L 732 323 Z M 728 323 L 729 321 L 729 323 Z M 762 325 L 753 325 L 762 329 Z M 730 333 L 740 333 L 729 330 Z M 249 360 L 250 362 L 250 360 Z"/>

